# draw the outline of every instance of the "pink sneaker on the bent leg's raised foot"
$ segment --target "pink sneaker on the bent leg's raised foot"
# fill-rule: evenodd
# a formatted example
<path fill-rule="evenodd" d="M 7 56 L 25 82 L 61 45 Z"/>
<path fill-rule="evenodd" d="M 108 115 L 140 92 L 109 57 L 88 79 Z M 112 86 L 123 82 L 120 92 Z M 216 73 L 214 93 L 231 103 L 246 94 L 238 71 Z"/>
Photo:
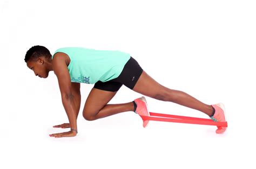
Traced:
<path fill-rule="evenodd" d="M 142 116 L 149 116 L 149 111 L 147 110 L 147 101 L 144 96 L 136 98 L 134 102 L 137 104 L 135 112 Z M 143 127 L 145 128 L 149 124 L 149 121 L 143 121 Z"/>

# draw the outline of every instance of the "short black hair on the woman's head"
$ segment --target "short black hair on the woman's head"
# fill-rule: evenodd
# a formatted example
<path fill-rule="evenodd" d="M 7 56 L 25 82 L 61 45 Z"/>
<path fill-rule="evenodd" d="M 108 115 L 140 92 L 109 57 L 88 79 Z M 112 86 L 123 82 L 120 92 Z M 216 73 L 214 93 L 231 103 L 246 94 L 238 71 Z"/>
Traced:
<path fill-rule="evenodd" d="M 48 48 L 44 47 L 44 46 L 40 46 L 40 45 L 36 45 L 36 46 L 32 46 L 25 55 L 25 62 L 27 62 L 28 60 L 37 60 L 38 57 L 46 57 L 46 58 L 50 58 L 51 57 L 51 53 L 48 50 Z"/>

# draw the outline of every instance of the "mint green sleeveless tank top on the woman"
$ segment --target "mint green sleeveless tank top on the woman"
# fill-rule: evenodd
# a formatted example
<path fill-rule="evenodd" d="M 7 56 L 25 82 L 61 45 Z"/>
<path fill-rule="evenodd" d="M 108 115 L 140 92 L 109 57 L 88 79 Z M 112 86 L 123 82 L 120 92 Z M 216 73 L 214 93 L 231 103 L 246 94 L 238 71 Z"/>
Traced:
<path fill-rule="evenodd" d="M 84 47 L 63 47 L 56 50 L 69 55 L 68 66 L 71 82 L 94 84 L 117 78 L 130 59 L 130 54 L 121 51 L 94 50 Z"/>

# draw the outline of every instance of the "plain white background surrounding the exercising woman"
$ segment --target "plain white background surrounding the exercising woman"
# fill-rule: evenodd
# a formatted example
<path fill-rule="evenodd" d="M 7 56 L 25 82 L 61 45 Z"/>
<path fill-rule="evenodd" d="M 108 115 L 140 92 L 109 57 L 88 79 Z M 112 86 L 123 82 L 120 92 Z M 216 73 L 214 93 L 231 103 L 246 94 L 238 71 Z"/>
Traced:
<path fill-rule="evenodd" d="M 255 168 L 255 1 L 0 1 L 0 168 Z M 69 129 L 58 82 L 26 67 L 35 45 L 130 53 L 153 79 L 206 104 L 224 103 L 228 129 L 151 121 L 134 112 Z M 253 61 L 254 60 L 254 61 Z M 110 101 L 142 96 L 123 86 Z M 146 97 L 151 112 L 208 118 Z"/>

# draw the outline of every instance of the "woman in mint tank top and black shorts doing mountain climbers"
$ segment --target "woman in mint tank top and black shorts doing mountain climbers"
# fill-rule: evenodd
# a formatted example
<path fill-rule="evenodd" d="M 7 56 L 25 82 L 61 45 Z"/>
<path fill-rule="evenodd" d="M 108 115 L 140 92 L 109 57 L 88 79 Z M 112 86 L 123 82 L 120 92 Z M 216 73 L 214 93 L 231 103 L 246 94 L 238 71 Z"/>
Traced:
<path fill-rule="evenodd" d="M 142 95 L 161 101 L 174 102 L 204 112 L 213 121 L 225 122 L 222 103 L 207 105 L 183 91 L 169 89 L 151 78 L 129 53 L 93 50 L 83 47 L 64 47 L 51 55 L 44 46 L 33 46 L 25 55 L 26 65 L 40 78 L 47 78 L 50 71 L 57 76 L 64 109 L 69 123 L 53 127 L 71 128 L 68 132 L 54 133 L 51 137 L 77 135 L 77 116 L 80 109 L 80 83 L 95 84 L 84 105 L 83 117 L 89 121 L 134 111 L 149 116 L 144 96 L 129 103 L 107 104 L 122 85 Z M 144 128 L 149 121 L 144 121 Z M 226 128 L 217 126 L 216 133 Z"/>

